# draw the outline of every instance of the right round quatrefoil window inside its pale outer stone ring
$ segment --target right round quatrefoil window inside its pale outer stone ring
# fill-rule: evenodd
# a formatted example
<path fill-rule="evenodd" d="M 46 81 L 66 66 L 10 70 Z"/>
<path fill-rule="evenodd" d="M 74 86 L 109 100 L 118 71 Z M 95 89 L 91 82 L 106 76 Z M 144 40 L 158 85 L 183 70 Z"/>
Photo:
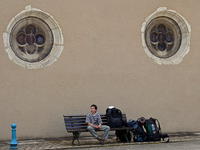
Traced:
<path fill-rule="evenodd" d="M 145 40 L 153 55 L 168 58 L 180 48 L 181 30 L 173 19 L 157 17 L 147 25 Z"/>

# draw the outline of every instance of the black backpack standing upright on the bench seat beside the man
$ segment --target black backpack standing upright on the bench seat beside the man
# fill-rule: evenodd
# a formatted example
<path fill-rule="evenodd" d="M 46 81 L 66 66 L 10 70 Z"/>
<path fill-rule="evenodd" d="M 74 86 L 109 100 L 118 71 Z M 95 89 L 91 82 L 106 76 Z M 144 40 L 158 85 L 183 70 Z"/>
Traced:
<path fill-rule="evenodd" d="M 108 126 L 110 126 L 111 128 L 120 128 L 124 125 L 121 110 L 117 108 L 107 108 L 106 116 L 108 120 Z"/>

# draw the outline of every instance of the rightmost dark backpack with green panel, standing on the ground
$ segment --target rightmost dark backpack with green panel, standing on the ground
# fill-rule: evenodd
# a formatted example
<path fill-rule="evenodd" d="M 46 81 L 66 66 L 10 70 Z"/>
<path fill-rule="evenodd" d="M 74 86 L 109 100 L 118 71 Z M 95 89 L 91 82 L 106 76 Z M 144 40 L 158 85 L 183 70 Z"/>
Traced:
<path fill-rule="evenodd" d="M 164 141 L 165 138 L 168 138 L 167 142 L 169 142 L 169 136 L 167 134 L 161 133 L 160 123 L 157 119 L 146 119 L 144 123 L 144 128 L 147 133 L 148 141 L 161 141 L 161 139 Z"/>

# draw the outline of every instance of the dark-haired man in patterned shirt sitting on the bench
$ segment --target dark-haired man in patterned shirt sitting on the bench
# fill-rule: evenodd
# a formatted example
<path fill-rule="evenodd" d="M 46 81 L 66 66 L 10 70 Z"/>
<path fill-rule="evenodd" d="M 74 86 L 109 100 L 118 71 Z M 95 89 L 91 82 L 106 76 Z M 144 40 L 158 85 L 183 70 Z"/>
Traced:
<path fill-rule="evenodd" d="M 110 127 L 102 125 L 101 116 L 97 112 L 97 106 L 94 104 L 90 106 L 90 113 L 86 116 L 86 123 L 88 124 L 87 129 L 90 131 L 90 133 L 97 140 L 99 140 L 101 144 L 104 144 L 104 141 L 108 139 L 108 132 L 110 131 Z M 100 138 L 95 130 L 104 131 L 103 138 Z"/>

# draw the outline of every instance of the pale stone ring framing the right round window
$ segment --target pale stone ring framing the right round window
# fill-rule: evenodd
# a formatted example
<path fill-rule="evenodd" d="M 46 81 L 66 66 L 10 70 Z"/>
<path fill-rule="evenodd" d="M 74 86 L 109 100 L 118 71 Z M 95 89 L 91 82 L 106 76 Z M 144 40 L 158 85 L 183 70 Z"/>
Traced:
<path fill-rule="evenodd" d="M 168 17 L 173 19 L 179 26 L 181 30 L 181 45 L 177 52 L 168 57 L 168 58 L 160 58 L 152 54 L 146 44 L 145 40 L 145 31 L 148 26 L 148 24 L 157 17 Z M 190 39 L 191 39 L 191 26 L 187 22 L 187 20 L 181 16 L 179 13 L 177 13 L 174 10 L 169 10 L 166 7 L 160 7 L 155 12 L 153 12 L 150 16 L 148 16 L 145 19 L 145 22 L 142 24 L 141 28 L 141 35 L 142 35 L 142 46 L 145 51 L 145 53 L 152 58 L 156 63 L 158 64 L 179 64 L 184 56 L 188 54 L 190 51 Z"/>

